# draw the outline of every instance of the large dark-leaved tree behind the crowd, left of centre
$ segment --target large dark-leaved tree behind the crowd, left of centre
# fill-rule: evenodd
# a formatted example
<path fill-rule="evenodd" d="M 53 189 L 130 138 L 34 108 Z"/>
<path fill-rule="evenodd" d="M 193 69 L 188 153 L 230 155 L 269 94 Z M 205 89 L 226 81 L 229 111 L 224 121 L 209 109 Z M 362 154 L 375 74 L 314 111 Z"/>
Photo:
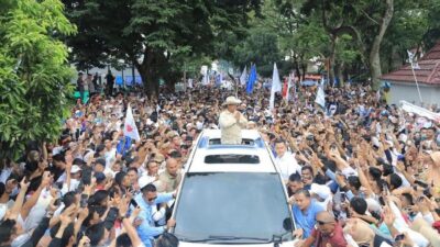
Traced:
<path fill-rule="evenodd" d="M 129 60 L 138 68 L 148 94 L 158 92 L 158 79 L 173 86 L 183 74 L 184 57 L 213 53 L 222 31 L 246 23 L 258 0 L 64 0 L 79 35 L 68 40 L 74 58 L 102 65 L 85 55 L 85 43 L 98 44 L 95 54 Z M 75 60 L 75 59 L 74 59 Z"/>

